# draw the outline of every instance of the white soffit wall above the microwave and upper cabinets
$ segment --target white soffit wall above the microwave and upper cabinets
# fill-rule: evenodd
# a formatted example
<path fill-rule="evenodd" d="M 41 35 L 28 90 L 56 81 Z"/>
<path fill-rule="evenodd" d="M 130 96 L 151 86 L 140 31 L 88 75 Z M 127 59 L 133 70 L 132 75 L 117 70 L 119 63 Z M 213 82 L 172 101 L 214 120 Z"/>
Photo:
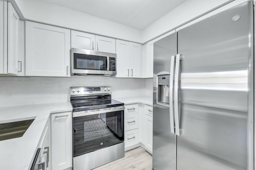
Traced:
<path fill-rule="evenodd" d="M 142 30 L 136 28 L 40 0 L 11 0 L 11 2 L 14 1 L 20 8 L 24 18 L 28 20 L 141 42 Z"/>

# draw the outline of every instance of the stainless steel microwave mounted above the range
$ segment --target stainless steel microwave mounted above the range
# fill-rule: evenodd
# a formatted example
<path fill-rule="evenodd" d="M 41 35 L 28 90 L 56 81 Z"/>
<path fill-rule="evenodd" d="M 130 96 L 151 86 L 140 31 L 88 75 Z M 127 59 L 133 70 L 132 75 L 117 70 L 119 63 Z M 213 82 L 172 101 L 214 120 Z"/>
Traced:
<path fill-rule="evenodd" d="M 116 75 L 116 54 L 71 48 L 71 75 Z"/>

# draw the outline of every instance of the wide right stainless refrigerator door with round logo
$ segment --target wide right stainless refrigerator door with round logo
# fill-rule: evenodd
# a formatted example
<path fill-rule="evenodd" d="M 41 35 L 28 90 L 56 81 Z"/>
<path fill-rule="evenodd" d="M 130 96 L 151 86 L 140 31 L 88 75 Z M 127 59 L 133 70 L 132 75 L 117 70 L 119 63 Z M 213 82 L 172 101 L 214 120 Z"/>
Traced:
<path fill-rule="evenodd" d="M 253 29 L 248 1 L 178 31 L 177 170 L 253 170 Z"/>

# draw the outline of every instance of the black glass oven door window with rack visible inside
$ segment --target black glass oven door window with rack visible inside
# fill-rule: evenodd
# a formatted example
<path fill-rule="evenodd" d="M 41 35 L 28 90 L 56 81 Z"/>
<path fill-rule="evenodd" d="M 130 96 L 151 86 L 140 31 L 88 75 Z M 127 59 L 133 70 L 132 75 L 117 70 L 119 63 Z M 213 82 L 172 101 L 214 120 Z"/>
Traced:
<path fill-rule="evenodd" d="M 74 157 L 124 141 L 124 111 L 73 118 Z"/>

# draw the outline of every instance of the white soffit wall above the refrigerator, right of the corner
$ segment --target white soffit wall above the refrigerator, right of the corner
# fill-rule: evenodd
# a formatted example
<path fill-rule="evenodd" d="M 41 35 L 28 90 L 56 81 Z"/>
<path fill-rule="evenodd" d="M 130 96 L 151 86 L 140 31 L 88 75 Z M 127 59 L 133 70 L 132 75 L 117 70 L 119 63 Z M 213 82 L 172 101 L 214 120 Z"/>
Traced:
<path fill-rule="evenodd" d="M 147 42 L 177 26 L 233 0 L 187 0 L 142 30 L 142 42 Z"/>

